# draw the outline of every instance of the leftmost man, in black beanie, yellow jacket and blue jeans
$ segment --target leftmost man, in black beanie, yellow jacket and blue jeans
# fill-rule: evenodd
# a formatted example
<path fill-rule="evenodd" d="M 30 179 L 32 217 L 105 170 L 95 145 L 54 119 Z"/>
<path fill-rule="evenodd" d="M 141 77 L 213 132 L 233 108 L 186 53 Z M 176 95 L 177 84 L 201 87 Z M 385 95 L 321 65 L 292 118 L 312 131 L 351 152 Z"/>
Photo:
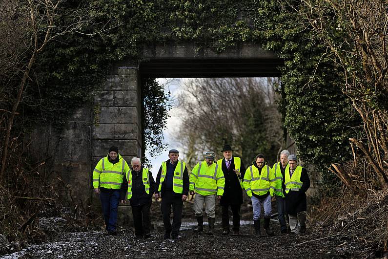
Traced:
<path fill-rule="evenodd" d="M 100 194 L 105 230 L 109 235 L 117 235 L 120 188 L 123 175 L 128 172 L 129 166 L 115 146 L 112 146 L 108 154 L 100 159 L 93 171 L 93 188 L 96 194 Z"/>

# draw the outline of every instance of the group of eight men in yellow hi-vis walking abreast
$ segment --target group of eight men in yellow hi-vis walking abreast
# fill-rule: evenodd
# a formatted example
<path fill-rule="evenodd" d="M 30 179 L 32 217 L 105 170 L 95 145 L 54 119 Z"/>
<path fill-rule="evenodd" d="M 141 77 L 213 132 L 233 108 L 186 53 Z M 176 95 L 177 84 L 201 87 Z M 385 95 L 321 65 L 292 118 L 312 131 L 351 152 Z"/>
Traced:
<path fill-rule="evenodd" d="M 193 209 L 198 222 L 195 231 L 204 231 L 205 205 L 209 225 L 207 233 L 214 233 L 215 207 L 219 200 L 222 208 L 222 235 L 230 233 L 229 207 L 232 211 L 232 235 L 239 235 L 244 190 L 252 201 L 256 236 L 261 236 L 261 207 L 264 207 L 265 232 L 268 236 L 274 235 L 270 227 L 273 199 L 277 203 L 281 233 L 299 234 L 306 231 L 306 191 L 310 180 L 306 169 L 297 164 L 295 154 L 281 151 L 280 161 L 273 167 L 266 164 L 263 154 L 258 154 L 252 165 L 245 168 L 241 158 L 233 156 L 230 145 L 225 145 L 222 153 L 224 158 L 216 161 L 214 151 L 205 151 L 204 161 L 198 162 L 189 174 L 186 164 L 179 160 L 179 151 L 172 149 L 154 181 L 152 173 L 142 166 L 140 158 L 133 157 L 129 167 L 118 148 L 111 147 L 93 172 L 93 188 L 95 193 L 100 194 L 106 231 L 110 235 L 117 234 L 119 202 L 126 203 L 129 200 L 135 236 L 150 237 L 149 213 L 155 194 L 155 199 L 162 199 L 164 239 L 178 239 L 183 202 L 190 193 L 195 194 Z"/>

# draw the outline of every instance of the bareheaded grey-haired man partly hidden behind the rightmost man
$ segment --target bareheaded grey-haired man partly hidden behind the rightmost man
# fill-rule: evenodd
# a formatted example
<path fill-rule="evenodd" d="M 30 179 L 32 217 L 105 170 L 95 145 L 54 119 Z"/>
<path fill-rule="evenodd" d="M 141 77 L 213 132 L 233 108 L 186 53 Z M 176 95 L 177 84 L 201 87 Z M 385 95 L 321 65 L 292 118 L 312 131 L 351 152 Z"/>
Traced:
<path fill-rule="evenodd" d="M 286 211 L 286 201 L 283 190 L 284 187 L 284 172 L 287 166 L 287 157 L 289 156 L 288 150 L 283 150 L 280 152 L 280 161 L 275 163 L 272 168 L 272 172 L 274 173 L 274 181 L 275 184 L 271 186 L 274 189 L 274 194 L 276 198 L 276 205 L 278 207 L 278 219 L 280 223 L 280 233 L 287 233 L 287 224 L 285 219 L 285 211 Z"/>

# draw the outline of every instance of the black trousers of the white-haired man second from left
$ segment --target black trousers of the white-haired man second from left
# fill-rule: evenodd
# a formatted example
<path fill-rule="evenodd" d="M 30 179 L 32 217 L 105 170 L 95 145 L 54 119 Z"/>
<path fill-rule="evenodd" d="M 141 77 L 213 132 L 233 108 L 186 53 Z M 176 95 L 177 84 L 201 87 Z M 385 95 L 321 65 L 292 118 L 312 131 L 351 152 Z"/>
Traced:
<path fill-rule="evenodd" d="M 150 220 L 149 209 L 151 208 L 151 202 L 140 205 L 131 206 L 133 223 L 135 225 L 135 236 L 142 237 L 149 234 Z"/>

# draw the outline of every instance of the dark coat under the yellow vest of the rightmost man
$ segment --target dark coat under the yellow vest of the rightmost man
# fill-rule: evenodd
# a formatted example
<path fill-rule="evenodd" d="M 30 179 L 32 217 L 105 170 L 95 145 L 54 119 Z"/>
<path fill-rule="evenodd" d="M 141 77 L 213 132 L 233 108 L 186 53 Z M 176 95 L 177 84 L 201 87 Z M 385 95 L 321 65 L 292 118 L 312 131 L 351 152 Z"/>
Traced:
<path fill-rule="evenodd" d="M 299 191 L 289 191 L 288 194 L 284 192 L 286 195 L 286 213 L 288 214 L 296 215 L 298 212 L 307 210 L 306 191 L 310 187 L 310 179 L 305 168 L 302 168 L 301 182 L 303 184 Z"/>

